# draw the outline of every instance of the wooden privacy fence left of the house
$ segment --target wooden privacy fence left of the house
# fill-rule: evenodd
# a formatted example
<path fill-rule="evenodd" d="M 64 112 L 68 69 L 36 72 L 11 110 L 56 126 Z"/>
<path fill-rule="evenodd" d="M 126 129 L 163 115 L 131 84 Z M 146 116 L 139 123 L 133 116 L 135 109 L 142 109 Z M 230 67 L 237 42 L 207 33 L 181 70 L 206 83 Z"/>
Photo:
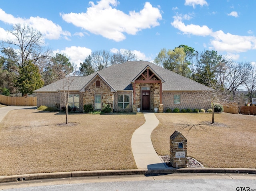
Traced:
<path fill-rule="evenodd" d="M 12 106 L 36 106 L 36 97 L 12 97 L 0 95 L 0 103 Z"/>

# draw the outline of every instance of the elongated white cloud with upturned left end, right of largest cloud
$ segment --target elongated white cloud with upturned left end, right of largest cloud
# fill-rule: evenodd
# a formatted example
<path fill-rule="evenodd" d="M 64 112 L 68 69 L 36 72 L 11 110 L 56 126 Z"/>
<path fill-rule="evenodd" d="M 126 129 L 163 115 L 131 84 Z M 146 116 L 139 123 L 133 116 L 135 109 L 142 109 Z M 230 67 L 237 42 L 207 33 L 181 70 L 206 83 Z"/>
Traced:
<path fill-rule="evenodd" d="M 185 18 L 188 17 L 185 15 Z M 199 26 L 199 25 L 185 25 L 182 22 L 182 19 L 184 16 L 174 16 L 174 21 L 171 23 L 174 28 L 177 28 L 178 30 L 182 31 L 183 34 L 193 34 L 193 35 L 199 35 L 199 36 L 207 36 L 212 33 L 212 30 L 209 29 L 207 26 Z"/>

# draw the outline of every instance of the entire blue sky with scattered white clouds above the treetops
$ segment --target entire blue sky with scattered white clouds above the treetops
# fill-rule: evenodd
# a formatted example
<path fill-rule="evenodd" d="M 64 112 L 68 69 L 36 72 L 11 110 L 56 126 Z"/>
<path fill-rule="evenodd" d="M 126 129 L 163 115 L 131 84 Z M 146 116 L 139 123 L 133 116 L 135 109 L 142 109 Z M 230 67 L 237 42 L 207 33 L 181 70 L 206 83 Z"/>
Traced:
<path fill-rule="evenodd" d="M 102 49 L 153 61 L 160 49 L 181 44 L 255 62 L 255 8 L 254 0 L 0 0 L 0 41 L 26 23 L 77 64 Z"/>

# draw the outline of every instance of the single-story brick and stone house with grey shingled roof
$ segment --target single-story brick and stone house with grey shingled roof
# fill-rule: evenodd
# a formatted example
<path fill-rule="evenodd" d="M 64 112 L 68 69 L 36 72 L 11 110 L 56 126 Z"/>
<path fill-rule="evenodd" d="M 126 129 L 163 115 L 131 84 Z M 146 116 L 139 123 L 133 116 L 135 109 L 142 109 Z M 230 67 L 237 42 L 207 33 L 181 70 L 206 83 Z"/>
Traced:
<path fill-rule="evenodd" d="M 72 81 L 72 82 L 71 82 Z M 71 82 L 71 83 L 70 83 Z M 68 86 L 67 83 L 70 83 Z M 82 111 L 85 104 L 101 110 L 109 104 L 113 112 L 153 111 L 167 108 L 208 109 L 202 96 L 209 88 L 147 61 L 127 61 L 88 76 L 69 77 L 37 89 L 37 106 L 69 105 Z"/>

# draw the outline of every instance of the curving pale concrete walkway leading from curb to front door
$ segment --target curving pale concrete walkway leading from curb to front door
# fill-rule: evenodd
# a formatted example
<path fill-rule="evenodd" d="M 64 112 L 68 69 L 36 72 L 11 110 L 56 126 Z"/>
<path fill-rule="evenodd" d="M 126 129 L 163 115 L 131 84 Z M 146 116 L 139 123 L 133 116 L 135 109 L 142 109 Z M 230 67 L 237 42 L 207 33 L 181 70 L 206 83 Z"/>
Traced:
<path fill-rule="evenodd" d="M 166 166 L 154 150 L 151 133 L 159 120 L 154 113 L 143 113 L 146 122 L 132 135 L 132 153 L 138 169 L 165 169 Z"/>

